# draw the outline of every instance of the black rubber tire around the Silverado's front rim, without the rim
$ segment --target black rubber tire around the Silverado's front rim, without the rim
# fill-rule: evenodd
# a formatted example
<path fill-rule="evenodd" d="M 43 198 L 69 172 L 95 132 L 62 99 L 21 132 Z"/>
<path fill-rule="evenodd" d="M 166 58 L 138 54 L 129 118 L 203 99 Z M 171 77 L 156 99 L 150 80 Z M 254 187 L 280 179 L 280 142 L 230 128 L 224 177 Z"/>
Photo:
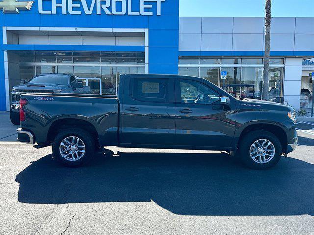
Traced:
<path fill-rule="evenodd" d="M 275 155 L 272 159 L 270 159 L 266 163 L 257 163 L 253 160 L 253 158 L 250 155 L 250 148 L 251 145 L 260 139 L 266 139 L 269 140 L 274 148 L 275 148 Z M 263 170 L 270 167 L 275 166 L 278 161 L 280 160 L 282 154 L 282 146 L 279 141 L 279 139 L 272 133 L 264 130 L 259 131 L 251 131 L 247 133 L 241 140 L 239 144 L 239 157 L 242 160 L 242 162 L 248 166 L 249 168 L 256 169 L 256 170 Z M 267 156 L 269 157 L 269 156 Z M 255 159 L 259 159 L 258 157 Z"/>

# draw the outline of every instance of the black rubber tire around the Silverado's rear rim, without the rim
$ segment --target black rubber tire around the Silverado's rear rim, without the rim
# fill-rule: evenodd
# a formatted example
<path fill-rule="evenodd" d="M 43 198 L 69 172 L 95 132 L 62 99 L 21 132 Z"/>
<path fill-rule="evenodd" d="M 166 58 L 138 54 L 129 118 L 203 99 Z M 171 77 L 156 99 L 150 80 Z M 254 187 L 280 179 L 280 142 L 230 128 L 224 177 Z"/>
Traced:
<path fill-rule="evenodd" d="M 65 157 L 62 157 L 60 153 L 60 149 L 59 149 L 61 142 L 65 138 L 70 137 L 70 136 L 78 137 L 85 145 L 84 154 L 82 155 L 81 158 L 75 161 L 71 161 L 69 159 L 66 159 Z M 53 156 L 56 157 L 58 161 L 62 163 L 63 165 L 70 166 L 70 167 L 77 167 L 77 166 L 88 163 L 91 160 L 91 158 L 94 156 L 95 139 L 89 132 L 80 128 L 63 129 L 59 131 L 59 133 L 54 138 L 54 141 L 52 143 L 52 152 L 53 152 Z"/>

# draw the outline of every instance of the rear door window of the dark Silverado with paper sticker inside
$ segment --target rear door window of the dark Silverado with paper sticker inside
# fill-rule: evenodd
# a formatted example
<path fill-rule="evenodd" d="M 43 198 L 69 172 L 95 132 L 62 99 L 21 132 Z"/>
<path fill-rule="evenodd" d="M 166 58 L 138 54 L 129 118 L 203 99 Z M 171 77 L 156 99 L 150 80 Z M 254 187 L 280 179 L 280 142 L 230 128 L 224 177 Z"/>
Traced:
<path fill-rule="evenodd" d="M 142 101 L 167 102 L 168 79 L 134 78 L 133 98 Z"/>

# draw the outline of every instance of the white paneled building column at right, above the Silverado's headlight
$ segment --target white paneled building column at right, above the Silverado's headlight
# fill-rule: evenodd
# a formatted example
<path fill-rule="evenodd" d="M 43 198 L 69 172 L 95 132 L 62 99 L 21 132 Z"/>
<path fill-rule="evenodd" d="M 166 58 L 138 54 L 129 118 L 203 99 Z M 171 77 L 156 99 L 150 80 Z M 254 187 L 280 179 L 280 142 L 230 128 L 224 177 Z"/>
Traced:
<path fill-rule="evenodd" d="M 300 109 L 302 58 L 286 58 L 284 73 L 284 101 Z"/>

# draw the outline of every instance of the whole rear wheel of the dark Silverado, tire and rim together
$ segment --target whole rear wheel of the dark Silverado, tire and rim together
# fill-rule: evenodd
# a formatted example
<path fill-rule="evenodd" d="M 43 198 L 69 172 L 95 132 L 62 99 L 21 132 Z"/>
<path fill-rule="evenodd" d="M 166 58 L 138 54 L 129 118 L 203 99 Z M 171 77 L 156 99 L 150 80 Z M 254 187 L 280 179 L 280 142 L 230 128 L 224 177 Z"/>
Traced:
<path fill-rule="evenodd" d="M 93 136 L 80 128 L 60 131 L 52 144 L 52 152 L 66 166 L 80 166 L 87 163 L 95 152 Z"/>

